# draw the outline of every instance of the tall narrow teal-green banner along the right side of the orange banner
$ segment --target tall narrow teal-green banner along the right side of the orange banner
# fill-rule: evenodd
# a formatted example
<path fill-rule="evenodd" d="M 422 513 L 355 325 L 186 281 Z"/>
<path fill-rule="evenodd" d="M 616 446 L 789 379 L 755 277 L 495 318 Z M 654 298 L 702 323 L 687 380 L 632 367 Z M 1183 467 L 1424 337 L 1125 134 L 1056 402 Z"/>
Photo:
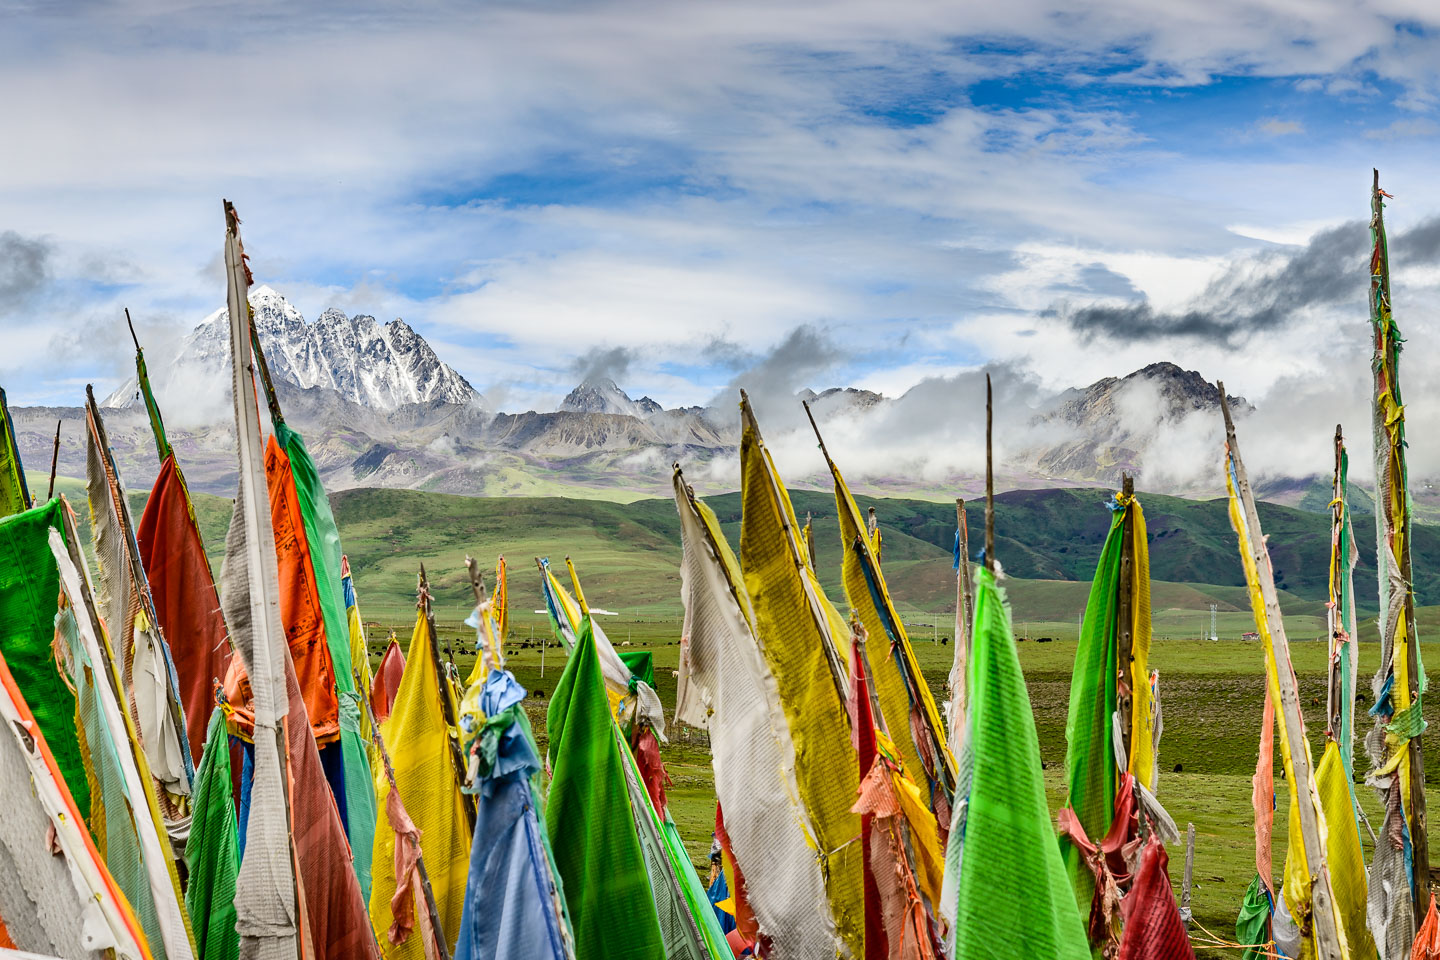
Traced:
<path fill-rule="evenodd" d="M 361 692 L 356 689 L 350 661 L 350 616 L 346 612 L 344 586 L 340 577 L 340 531 L 330 511 L 330 498 L 320 482 L 315 461 L 305 449 L 305 440 L 284 422 L 275 425 L 275 439 L 289 456 L 289 472 L 295 481 L 300 515 L 305 524 L 310 563 L 315 570 L 320 593 L 320 615 L 325 622 L 325 646 L 336 672 L 336 697 L 340 701 L 340 751 L 346 766 L 346 836 L 354 855 L 356 878 L 366 902 L 370 901 L 370 862 L 374 855 L 374 779 L 370 756 L 360 734 L 360 714 L 364 712 Z"/>

